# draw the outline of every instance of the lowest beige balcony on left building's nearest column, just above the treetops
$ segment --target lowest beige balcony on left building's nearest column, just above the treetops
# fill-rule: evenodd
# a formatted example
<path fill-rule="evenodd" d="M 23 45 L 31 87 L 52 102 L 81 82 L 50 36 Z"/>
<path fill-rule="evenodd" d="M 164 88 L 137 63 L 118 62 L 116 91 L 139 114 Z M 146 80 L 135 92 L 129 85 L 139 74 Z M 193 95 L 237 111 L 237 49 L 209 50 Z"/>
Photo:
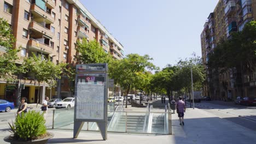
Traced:
<path fill-rule="evenodd" d="M 44 54 L 51 54 L 53 53 L 53 48 L 49 45 L 46 45 L 38 40 L 30 39 L 28 40 L 28 49 L 33 51 L 42 52 Z"/>

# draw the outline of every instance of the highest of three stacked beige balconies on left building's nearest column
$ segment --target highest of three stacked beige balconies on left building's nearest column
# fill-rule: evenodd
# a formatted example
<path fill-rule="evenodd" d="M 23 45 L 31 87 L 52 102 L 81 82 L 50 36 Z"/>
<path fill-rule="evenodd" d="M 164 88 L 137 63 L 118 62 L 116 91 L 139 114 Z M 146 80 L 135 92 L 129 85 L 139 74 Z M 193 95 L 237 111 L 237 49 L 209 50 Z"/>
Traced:
<path fill-rule="evenodd" d="M 47 13 L 45 10 L 39 8 L 36 4 L 31 4 L 31 13 L 34 17 L 44 17 L 45 23 L 54 23 L 54 17 Z"/>

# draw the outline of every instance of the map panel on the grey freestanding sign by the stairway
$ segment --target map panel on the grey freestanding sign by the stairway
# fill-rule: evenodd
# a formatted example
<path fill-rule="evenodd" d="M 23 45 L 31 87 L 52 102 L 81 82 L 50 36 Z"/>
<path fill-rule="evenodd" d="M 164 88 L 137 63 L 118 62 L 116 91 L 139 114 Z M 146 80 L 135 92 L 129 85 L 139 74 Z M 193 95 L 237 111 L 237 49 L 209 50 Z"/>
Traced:
<path fill-rule="evenodd" d="M 80 74 L 77 77 L 77 119 L 104 119 L 104 76 Z"/>

